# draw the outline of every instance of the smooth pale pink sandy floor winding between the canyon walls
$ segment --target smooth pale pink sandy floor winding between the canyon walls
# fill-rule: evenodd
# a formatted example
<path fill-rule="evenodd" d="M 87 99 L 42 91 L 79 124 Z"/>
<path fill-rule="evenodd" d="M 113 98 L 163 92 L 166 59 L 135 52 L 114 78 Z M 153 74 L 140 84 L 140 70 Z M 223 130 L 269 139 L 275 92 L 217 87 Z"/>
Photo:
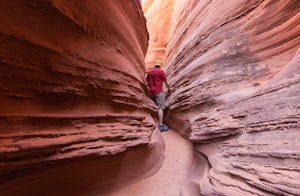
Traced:
<path fill-rule="evenodd" d="M 133 183 L 109 196 L 179 195 L 193 162 L 192 144 L 173 130 L 161 133 L 164 143 L 164 161 L 153 176 Z"/>

